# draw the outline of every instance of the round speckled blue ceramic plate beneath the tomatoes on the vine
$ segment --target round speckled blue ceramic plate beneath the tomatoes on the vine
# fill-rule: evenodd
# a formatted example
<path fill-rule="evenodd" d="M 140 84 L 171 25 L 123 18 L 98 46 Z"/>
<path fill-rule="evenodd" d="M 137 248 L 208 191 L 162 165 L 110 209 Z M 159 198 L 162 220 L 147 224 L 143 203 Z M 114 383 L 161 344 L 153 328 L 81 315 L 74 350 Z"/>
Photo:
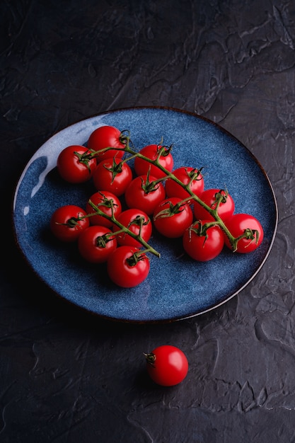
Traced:
<path fill-rule="evenodd" d="M 93 183 L 69 185 L 55 168 L 70 144 L 86 144 L 93 130 L 112 125 L 130 130 L 136 149 L 173 144 L 175 168 L 204 166 L 205 188 L 227 188 L 236 212 L 257 217 L 265 238 L 250 254 L 225 250 L 208 263 L 183 254 L 181 241 L 154 235 L 149 277 L 138 287 L 112 284 L 103 265 L 84 263 L 76 245 L 64 245 L 49 230 L 54 209 L 85 207 Z M 198 115 L 170 108 L 129 108 L 91 117 L 51 137 L 30 159 L 18 181 L 13 222 L 16 241 L 37 275 L 61 297 L 104 318 L 129 322 L 175 321 L 214 309 L 238 294 L 257 275 L 270 253 L 277 230 L 277 204 L 262 166 L 229 132 Z"/>

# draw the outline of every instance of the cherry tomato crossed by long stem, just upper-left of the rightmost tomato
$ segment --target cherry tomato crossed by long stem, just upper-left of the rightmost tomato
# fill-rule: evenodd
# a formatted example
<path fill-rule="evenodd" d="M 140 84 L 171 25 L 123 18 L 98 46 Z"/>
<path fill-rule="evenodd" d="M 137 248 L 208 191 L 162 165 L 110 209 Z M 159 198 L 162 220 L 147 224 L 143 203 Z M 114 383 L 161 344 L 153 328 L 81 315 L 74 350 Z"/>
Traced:
<path fill-rule="evenodd" d="M 229 193 L 225 190 L 207 189 L 204 190 L 201 195 L 199 195 L 199 198 L 212 209 L 216 208 L 217 201 L 219 198 L 221 198 L 221 203 L 219 204 L 217 210 L 219 217 L 224 221 L 233 215 L 235 203 L 231 195 L 229 195 Z M 214 217 L 209 214 L 207 209 L 202 207 L 202 205 L 199 205 L 198 202 L 195 202 L 194 204 L 194 214 L 195 218 L 198 220 L 214 220 Z"/>

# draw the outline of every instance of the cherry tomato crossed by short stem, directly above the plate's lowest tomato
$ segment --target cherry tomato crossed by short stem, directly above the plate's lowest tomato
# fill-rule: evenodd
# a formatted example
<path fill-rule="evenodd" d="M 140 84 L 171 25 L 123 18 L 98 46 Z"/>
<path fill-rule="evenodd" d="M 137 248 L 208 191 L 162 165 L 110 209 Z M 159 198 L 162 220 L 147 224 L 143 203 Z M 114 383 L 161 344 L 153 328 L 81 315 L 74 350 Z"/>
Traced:
<path fill-rule="evenodd" d="M 116 218 L 117 222 L 120 222 L 123 226 L 126 226 L 131 232 L 133 232 L 133 234 L 140 234 L 144 241 L 148 242 L 149 238 L 151 238 L 151 219 L 144 211 L 141 211 L 141 209 L 126 209 Z M 120 227 L 114 224 L 112 231 L 116 233 L 117 231 L 120 231 Z M 142 246 L 139 241 L 124 232 L 117 234 L 116 237 L 117 243 L 120 246 L 129 245 L 137 248 L 141 248 Z"/>

